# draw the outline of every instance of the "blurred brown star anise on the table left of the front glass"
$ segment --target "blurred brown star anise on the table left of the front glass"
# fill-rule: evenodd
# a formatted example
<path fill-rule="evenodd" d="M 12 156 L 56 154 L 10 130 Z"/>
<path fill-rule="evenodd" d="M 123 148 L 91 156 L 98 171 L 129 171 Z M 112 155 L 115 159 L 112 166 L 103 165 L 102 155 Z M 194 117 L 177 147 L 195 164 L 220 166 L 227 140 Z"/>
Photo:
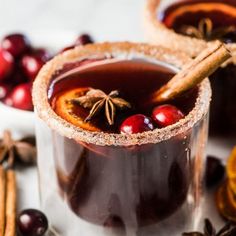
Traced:
<path fill-rule="evenodd" d="M 0 164 L 6 162 L 7 167 L 13 167 L 17 160 L 26 164 L 36 162 L 35 138 L 13 140 L 11 132 L 6 130 L 0 139 Z"/>

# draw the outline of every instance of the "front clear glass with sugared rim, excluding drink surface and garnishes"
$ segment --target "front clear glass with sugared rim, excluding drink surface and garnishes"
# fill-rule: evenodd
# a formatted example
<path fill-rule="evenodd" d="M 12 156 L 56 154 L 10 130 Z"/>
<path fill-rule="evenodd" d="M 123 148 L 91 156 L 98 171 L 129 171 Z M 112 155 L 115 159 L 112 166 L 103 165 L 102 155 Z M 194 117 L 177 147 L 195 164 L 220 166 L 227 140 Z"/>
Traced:
<path fill-rule="evenodd" d="M 145 60 L 173 72 L 190 60 L 162 47 L 104 43 L 67 51 L 43 67 L 33 100 L 41 206 L 51 227 L 70 236 L 193 230 L 203 196 L 209 81 L 199 85 L 193 108 L 174 125 L 131 135 L 87 131 L 54 112 L 50 88 L 84 59 L 96 58 Z"/>

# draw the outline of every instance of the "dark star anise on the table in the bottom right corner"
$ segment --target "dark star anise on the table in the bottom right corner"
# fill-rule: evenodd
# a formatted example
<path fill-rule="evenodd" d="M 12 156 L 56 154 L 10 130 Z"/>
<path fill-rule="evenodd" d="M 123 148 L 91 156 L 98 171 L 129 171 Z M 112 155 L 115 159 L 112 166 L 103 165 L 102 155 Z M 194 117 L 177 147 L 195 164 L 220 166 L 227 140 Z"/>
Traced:
<path fill-rule="evenodd" d="M 209 219 L 205 219 L 204 233 L 189 232 L 189 233 L 183 233 L 182 235 L 183 236 L 235 236 L 236 226 L 228 222 L 218 232 L 216 232 L 216 229 L 212 225 L 211 221 Z"/>

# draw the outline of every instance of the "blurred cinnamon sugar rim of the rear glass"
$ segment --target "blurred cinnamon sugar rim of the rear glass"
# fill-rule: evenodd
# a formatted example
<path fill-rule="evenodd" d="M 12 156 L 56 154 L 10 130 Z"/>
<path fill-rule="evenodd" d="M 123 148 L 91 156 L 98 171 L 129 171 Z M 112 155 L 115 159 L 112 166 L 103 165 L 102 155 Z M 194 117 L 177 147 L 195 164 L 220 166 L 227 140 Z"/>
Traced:
<path fill-rule="evenodd" d="M 206 42 L 203 39 L 197 39 L 176 33 L 173 29 L 167 28 L 158 20 L 158 8 L 161 0 L 147 0 L 144 15 L 144 25 L 147 38 L 151 43 L 163 45 L 165 47 L 185 52 L 190 57 L 196 57 L 206 47 L 214 44 L 214 41 Z M 232 53 L 232 58 L 223 64 L 223 66 L 236 64 L 236 43 L 228 43 L 228 49 Z"/>

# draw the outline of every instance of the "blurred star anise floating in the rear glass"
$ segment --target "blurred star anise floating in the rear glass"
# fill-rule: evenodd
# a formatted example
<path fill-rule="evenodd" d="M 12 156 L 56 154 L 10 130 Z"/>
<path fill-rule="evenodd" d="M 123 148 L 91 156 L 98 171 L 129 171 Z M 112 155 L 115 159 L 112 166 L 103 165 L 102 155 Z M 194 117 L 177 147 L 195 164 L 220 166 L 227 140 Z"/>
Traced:
<path fill-rule="evenodd" d="M 213 22 L 209 18 L 201 19 L 197 27 L 184 25 L 179 30 L 181 34 L 207 41 L 223 39 L 224 36 L 235 31 L 236 27 L 233 25 L 214 29 Z"/>

